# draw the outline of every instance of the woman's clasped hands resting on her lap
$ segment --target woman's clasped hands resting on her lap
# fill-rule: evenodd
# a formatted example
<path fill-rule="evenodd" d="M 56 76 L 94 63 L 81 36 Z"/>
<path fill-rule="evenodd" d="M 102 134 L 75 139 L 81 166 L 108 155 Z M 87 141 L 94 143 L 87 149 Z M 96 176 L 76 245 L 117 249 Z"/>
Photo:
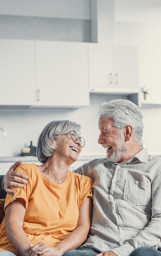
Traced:
<path fill-rule="evenodd" d="M 51 247 L 49 245 L 46 245 L 45 243 L 38 243 L 36 245 L 29 245 L 30 246 L 30 252 L 28 256 L 62 256 L 63 250 L 61 250 L 58 247 Z"/>

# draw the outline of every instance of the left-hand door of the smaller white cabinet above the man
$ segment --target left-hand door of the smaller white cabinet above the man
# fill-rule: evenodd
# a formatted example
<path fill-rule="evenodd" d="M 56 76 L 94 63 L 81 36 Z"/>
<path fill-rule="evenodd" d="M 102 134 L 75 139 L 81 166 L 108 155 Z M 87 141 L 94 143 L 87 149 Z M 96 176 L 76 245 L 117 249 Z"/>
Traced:
<path fill-rule="evenodd" d="M 113 47 L 89 43 L 89 88 L 108 88 L 113 83 Z"/>

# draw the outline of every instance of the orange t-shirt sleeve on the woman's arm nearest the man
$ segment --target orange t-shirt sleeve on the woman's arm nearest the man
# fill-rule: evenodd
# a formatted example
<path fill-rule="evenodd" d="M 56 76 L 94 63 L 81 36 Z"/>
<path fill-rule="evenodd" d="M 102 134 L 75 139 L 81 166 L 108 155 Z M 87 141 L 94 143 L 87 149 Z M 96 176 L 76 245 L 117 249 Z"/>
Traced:
<path fill-rule="evenodd" d="M 89 196 L 90 198 L 93 198 L 93 183 L 94 180 L 90 177 L 82 176 L 81 182 L 83 182 L 82 186 L 82 193 L 79 198 L 79 205 L 83 204 L 83 202 L 87 199 Z"/>

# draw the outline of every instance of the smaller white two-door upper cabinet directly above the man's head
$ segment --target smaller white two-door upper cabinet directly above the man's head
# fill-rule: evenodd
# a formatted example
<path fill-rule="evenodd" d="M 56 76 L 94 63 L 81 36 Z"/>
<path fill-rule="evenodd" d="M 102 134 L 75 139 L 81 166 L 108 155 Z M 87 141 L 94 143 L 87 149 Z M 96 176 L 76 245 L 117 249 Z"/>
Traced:
<path fill-rule="evenodd" d="M 89 90 L 138 92 L 137 47 L 89 43 Z"/>

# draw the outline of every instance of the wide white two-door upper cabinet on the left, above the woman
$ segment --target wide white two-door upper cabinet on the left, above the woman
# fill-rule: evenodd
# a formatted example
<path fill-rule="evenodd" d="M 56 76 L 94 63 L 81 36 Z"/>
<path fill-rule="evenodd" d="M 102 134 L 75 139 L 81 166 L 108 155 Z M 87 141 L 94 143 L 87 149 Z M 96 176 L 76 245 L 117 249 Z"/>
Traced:
<path fill-rule="evenodd" d="M 87 43 L 0 40 L 0 106 L 89 105 Z"/>

